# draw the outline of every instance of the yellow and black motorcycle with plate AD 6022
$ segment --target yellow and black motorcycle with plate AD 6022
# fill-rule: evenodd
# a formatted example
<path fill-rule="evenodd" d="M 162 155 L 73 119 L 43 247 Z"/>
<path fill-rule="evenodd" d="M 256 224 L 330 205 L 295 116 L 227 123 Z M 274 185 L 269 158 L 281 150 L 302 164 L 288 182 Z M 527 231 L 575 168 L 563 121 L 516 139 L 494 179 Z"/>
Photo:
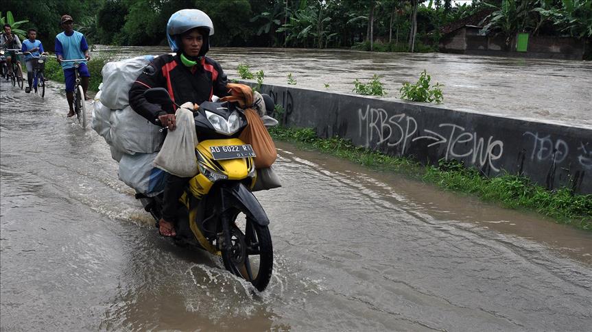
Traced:
<path fill-rule="evenodd" d="M 173 103 L 163 88 L 148 89 L 144 96 L 150 103 Z M 264 100 L 270 103 L 268 96 Z M 193 116 L 199 173 L 181 196 L 175 241 L 222 257 L 226 270 L 262 291 L 272 275 L 273 248 L 270 220 L 250 190 L 257 179 L 256 155 L 238 138 L 247 125 L 246 116 L 235 103 L 209 101 Z M 162 195 L 136 198 L 158 223 Z"/>

